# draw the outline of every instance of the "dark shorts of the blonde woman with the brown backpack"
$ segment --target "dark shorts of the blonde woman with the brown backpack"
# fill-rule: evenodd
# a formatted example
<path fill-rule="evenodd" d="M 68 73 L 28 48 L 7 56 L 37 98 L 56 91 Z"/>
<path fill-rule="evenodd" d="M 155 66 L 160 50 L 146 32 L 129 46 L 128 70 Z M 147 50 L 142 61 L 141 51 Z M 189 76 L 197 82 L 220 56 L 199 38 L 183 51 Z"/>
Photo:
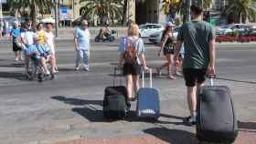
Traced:
<path fill-rule="evenodd" d="M 142 71 L 142 66 L 139 64 L 123 64 L 123 76 L 126 75 L 140 75 Z"/>

